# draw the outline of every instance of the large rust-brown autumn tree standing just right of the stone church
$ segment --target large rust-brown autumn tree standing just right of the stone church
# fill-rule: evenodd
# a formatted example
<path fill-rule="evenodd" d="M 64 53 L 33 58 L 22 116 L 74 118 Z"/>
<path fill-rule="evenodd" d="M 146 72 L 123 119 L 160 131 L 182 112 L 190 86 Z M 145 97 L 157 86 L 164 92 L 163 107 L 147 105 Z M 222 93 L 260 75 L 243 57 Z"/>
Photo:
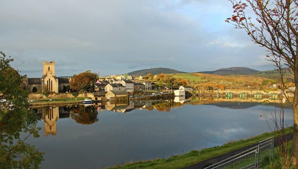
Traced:
<path fill-rule="evenodd" d="M 91 71 L 85 71 L 78 75 L 74 75 L 69 82 L 70 89 L 75 91 L 94 91 L 94 84 L 97 80 L 97 75 Z"/>

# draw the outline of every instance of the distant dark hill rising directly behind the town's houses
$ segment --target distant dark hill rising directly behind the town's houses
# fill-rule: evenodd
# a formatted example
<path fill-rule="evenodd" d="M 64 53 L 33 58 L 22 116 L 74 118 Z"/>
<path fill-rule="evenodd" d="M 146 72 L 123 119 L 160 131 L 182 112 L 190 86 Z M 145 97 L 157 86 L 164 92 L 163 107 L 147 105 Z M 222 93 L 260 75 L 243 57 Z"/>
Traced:
<path fill-rule="evenodd" d="M 148 73 L 152 73 L 152 74 L 160 74 L 160 73 L 171 74 L 171 73 L 187 73 L 187 72 L 177 71 L 177 70 L 170 69 L 170 68 L 151 68 L 151 69 L 133 71 L 133 72 L 128 73 L 128 75 L 142 76 L 142 75 L 147 75 Z"/>

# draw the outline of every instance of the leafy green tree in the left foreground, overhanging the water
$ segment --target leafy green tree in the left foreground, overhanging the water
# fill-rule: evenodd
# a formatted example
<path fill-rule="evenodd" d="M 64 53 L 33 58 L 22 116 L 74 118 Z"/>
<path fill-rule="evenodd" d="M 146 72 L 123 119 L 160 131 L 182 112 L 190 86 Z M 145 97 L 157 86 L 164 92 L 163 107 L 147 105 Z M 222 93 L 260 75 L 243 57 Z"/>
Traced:
<path fill-rule="evenodd" d="M 25 143 L 30 135 L 39 137 L 41 129 L 36 127 L 35 112 L 26 108 L 29 91 L 22 87 L 26 76 L 8 71 L 13 59 L 0 54 L 0 99 L 10 102 L 0 103 L 0 168 L 39 168 L 44 153 Z M 21 138 L 20 133 L 27 137 Z"/>

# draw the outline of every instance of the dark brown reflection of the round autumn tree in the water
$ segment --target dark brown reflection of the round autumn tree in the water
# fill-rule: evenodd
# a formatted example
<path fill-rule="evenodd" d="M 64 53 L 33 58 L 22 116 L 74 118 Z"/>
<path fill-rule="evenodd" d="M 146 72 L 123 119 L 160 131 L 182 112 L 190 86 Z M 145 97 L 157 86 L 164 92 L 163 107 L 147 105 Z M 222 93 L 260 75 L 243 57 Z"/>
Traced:
<path fill-rule="evenodd" d="M 97 111 L 94 106 L 78 105 L 77 107 L 71 107 L 70 117 L 77 123 L 83 125 L 91 125 L 98 122 Z"/>

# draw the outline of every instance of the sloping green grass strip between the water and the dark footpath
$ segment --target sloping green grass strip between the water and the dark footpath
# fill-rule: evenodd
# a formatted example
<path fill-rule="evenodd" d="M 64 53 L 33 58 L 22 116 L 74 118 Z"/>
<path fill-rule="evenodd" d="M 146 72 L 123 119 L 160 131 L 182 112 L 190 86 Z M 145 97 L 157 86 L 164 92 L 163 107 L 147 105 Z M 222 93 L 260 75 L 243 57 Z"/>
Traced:
<path fill-rule="evenodd" d="M 286 134 L 292 133 L 293 128 L 289 127 L 285 129 Z M 193 165 L 195 163 L 207 160 L 209 158 L 225 154 L 231 152 L 236 149 L 240 149 L 246 146 L 250 146 L 252 144 L 256 144 L 259 141 L 265 140 L 269 137 L 274 136 L 272 133 L 263 133 L 261 135 L 248 138 L 245 140 L 231 141 L 222 146 L 215 146 L 208 149 L 202 149 L 200 151 L 192 150 L 186 154 L 182 155 L 174 155 L 168 159 L 159 159 L 155 160 L 147 160 L 147 161 L 137 161 L 137 162 L 129 162 L 124 165 L 116 165 L 111 168 L 183 168 L 189 165 Z M 109 168 L 109 167 L 108 167 Z"/>

